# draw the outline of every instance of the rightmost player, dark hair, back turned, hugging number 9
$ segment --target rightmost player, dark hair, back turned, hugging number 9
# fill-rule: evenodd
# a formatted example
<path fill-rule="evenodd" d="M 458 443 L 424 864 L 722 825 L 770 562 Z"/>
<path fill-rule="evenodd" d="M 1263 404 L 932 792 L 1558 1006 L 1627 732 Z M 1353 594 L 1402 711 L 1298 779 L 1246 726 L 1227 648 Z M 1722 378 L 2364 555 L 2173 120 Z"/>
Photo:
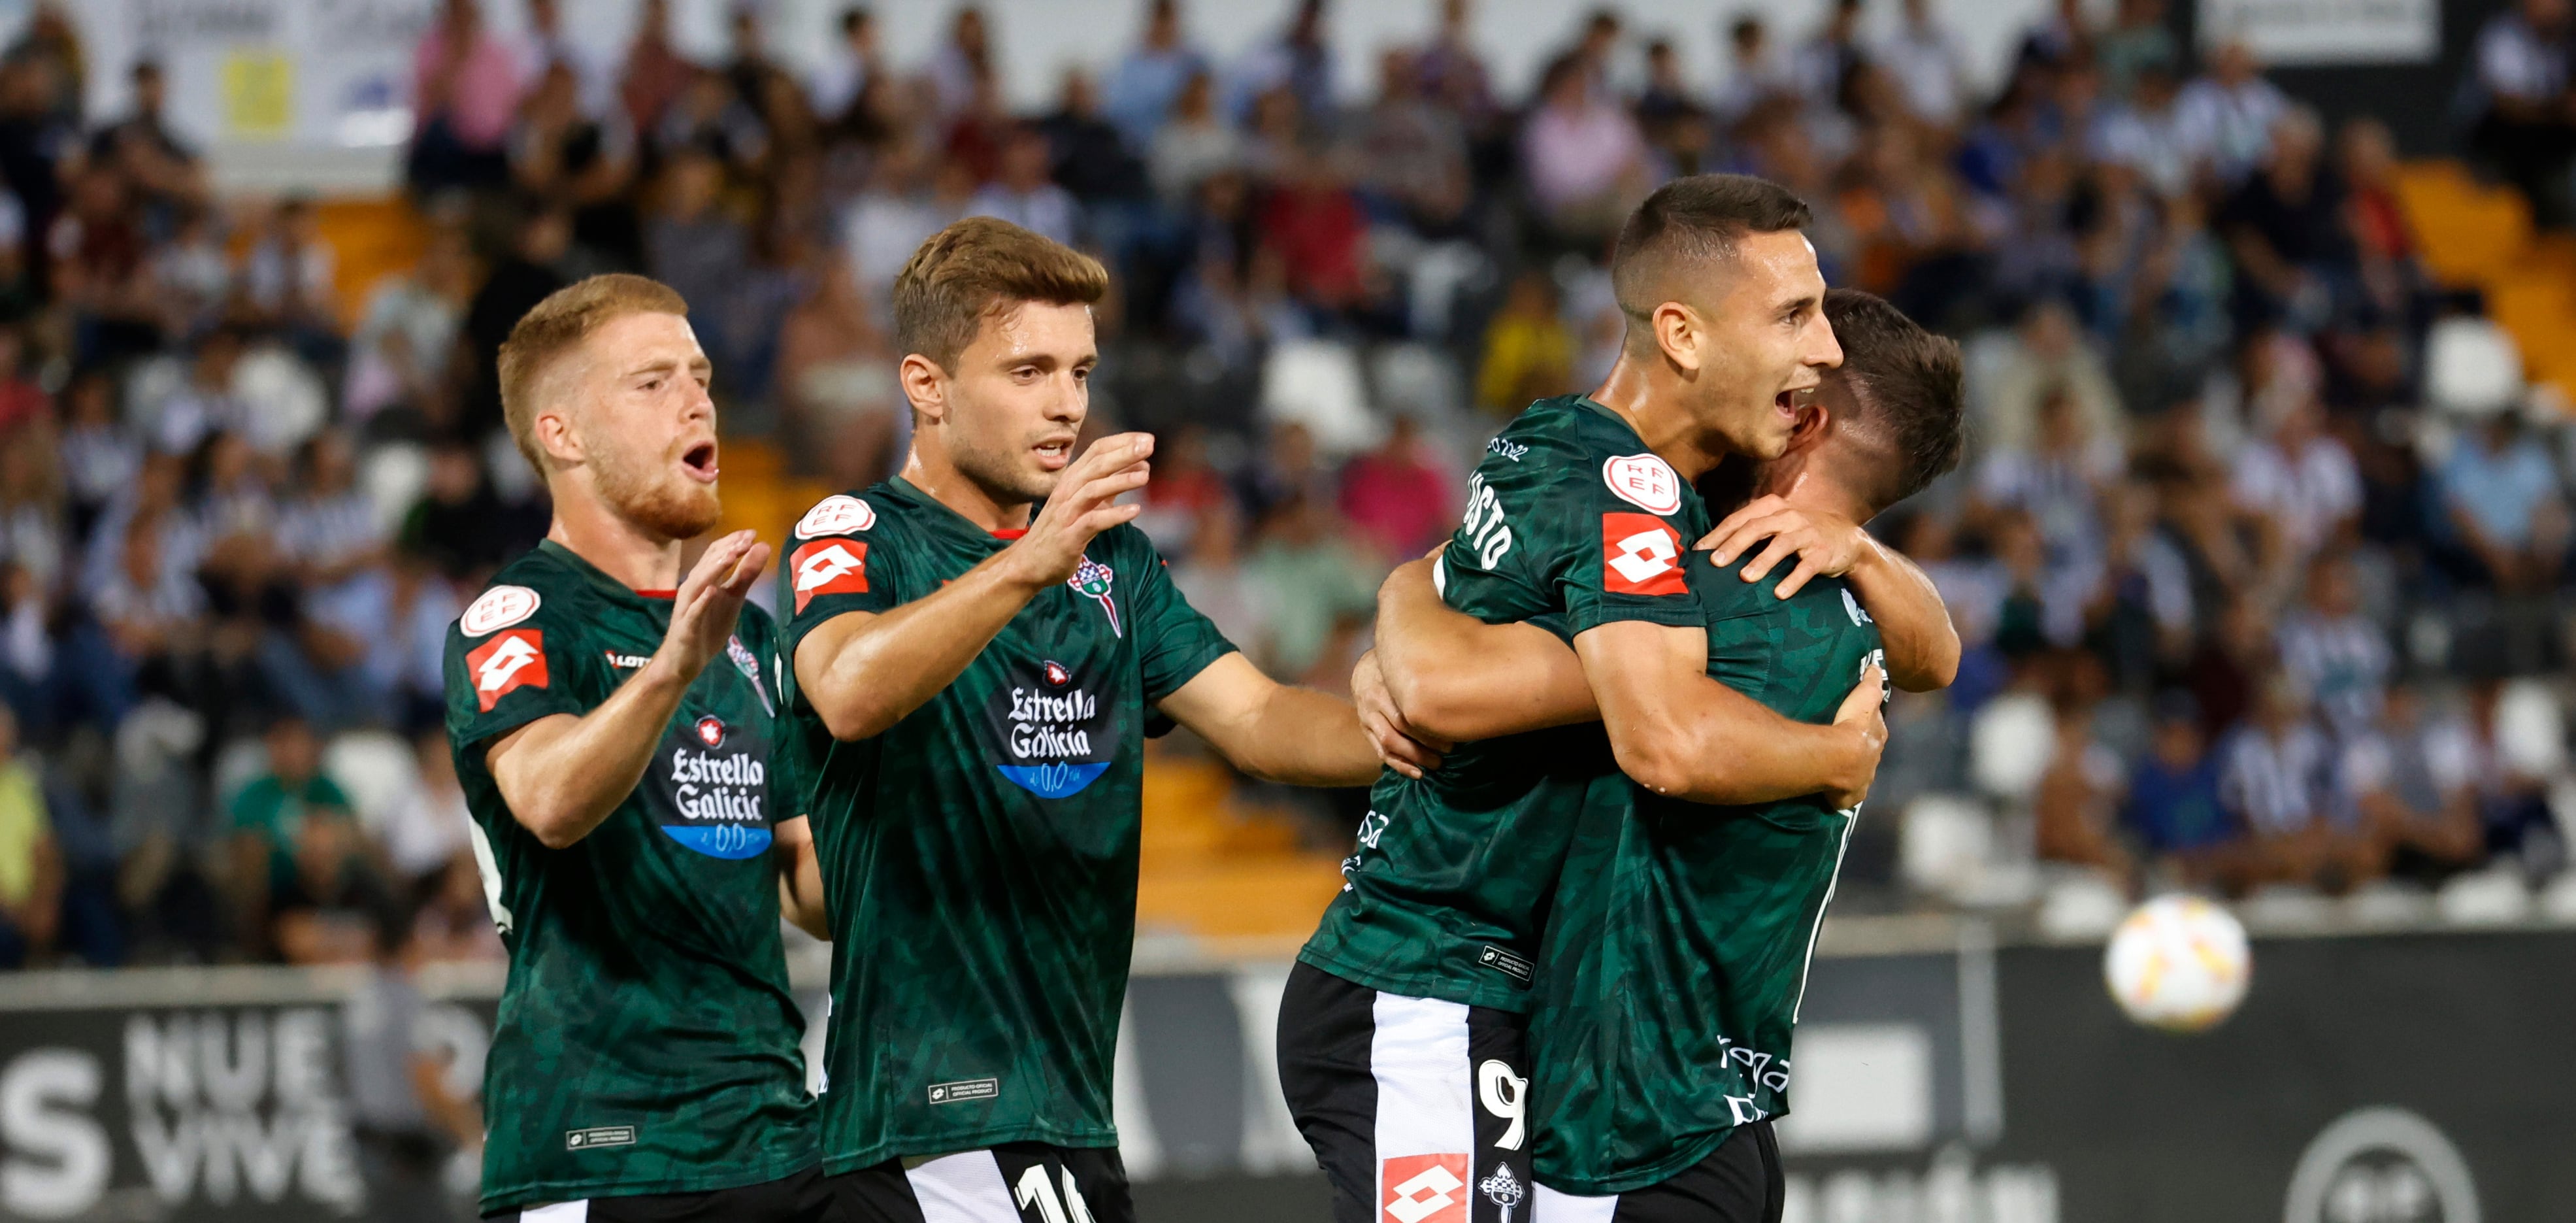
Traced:
<path fill-rule="evenodd" d="M 1826 317 L 1842 368 L 1826 373 L 1788 453 L 1752 466 L 1759 497 L 1685 564 L 1708 623 L 1708 675 L 1806 724 L 1832 718 L 1844 682 L 1880 662 L 1860 587 L 1911 582 L 1857 523 L 1960 453 L 1958 345 L 1847 288 L 1826 294 Z M 1754 551 L 1762 538 L 1772 543 Z M 1783 572 L 1788 551 L 1801 564 Z M 1484 713 L 1504 698 L 1530 724 L 1592 716 L 1584 667 L 1548 626 L 1448 610 L 1430 566 L 1406 569 L 1386 584 L 1378 636 L 1391 690 L 1414 700 L 1401 721 L 1435 736 L 1525 729 Z M 1538 1218 L 1780 1218 L 1770 1130 L 1788 1112 L 1790 1027 L 1855 819 L 1857 806 L 1821 793 L 1698 806 L 1618 775 L 1595 783 L 1540 940 L 1530 1017 Z"/>

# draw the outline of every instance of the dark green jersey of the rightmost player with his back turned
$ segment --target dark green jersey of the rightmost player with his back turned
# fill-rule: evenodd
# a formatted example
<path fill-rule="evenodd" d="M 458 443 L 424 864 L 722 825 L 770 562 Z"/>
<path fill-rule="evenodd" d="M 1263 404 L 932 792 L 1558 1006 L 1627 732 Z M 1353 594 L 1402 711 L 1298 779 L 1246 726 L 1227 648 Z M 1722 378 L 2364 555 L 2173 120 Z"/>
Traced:
<path fill-rule="evenodd" d="M 1780 600 L 1690 556 L 1708 675 L 1824 724 L 1886 667 L 1842 579 Z M 1788 1112 L 1788 1040 L 1816 927 L 1852 834 L 1824 796 L 1757 806 L 1664 798 L 1628 778 L 1584 811 L 1530 1017 L 1538 1179 L 1574 1195 L 1656 1184 L 1736 1128 Z"/>

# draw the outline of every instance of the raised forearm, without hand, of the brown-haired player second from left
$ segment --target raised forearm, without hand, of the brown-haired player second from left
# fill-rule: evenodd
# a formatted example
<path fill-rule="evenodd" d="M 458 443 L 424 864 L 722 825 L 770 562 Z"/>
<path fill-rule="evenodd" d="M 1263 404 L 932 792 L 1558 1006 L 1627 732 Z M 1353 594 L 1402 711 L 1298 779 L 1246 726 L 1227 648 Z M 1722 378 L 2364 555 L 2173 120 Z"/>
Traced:
<path fill-rule="evenodd" d="M 886 613 L 848 613 L 796 646 L 796 685 L 832 739 L 884 734 L 940 695 L 1038 595 L 1012 554 Z"/>

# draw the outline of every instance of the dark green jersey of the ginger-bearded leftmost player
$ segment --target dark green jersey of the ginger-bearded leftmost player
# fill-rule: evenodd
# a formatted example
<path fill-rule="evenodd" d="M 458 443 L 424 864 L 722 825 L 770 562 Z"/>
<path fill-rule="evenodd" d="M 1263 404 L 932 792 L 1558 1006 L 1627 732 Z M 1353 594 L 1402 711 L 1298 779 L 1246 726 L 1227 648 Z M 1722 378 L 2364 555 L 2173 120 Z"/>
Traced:
<path fill-rule="evenodd" d="M 484 749 L 582 716 L 662 646 L 670 597 L 554 541 L 510 561 L 448 628 L 448 742 L 484 901 L 510 948 L 484 1066 L 482 1210 L 708 1192 L 817 1161 L 804 1020 L 778 942 L 775 626 L 742 608 L 672 713 L 644 780 L 549 850 Z"/>

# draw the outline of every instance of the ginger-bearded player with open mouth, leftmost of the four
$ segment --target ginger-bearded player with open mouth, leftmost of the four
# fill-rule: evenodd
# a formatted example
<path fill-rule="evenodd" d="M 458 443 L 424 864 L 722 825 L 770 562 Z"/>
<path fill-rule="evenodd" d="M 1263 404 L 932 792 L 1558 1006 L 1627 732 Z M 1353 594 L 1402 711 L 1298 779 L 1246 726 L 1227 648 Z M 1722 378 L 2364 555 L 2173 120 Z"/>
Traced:
<path fill-rule="evenodd" d="M 484 1069 L 487 1218 L 822 1220 L 778 942 L 775 628 L 716 525 L 716 404 L 680 294 L 556 291 L 500 350 L 554 523 L 448 631 L 448 739 L 510 948 Z"/>

